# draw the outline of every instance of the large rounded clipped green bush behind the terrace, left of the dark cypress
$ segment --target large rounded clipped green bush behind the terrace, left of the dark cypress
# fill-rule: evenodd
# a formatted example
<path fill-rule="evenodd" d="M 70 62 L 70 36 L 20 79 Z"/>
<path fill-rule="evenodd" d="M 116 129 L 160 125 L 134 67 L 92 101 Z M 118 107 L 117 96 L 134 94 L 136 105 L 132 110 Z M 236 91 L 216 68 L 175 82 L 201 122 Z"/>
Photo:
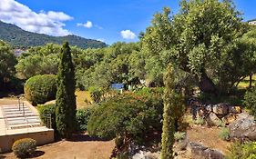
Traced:
<path fill-rule="evenodd" d="M 26 99 L 33 105 L 45 104 L 56 98 L 56 75 L 36 75 L 26 81 Z"/>

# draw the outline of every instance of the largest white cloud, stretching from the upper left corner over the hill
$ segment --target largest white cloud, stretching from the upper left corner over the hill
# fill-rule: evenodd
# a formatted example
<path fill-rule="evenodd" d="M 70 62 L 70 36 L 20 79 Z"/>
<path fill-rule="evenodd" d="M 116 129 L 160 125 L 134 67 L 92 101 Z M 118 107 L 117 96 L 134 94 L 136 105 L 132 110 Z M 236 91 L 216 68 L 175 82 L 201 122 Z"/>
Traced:
<path fill-rule="evenodd" d="M 0 20 L 14 24 L 26 31 L 46 35 L 70 35 L 63 22 L 73 17 L 63 12 L 40 11 L 36 13 L 15 0 L 0 0 Z"/>

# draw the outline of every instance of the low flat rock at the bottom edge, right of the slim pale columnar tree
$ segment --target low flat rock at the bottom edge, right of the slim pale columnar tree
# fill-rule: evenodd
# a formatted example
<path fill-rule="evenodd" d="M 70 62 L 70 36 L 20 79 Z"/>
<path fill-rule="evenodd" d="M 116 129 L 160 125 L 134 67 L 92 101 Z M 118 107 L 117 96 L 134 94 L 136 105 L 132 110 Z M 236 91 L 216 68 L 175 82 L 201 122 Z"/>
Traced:
<path fill-rule="evenodd" d="M 217 150 L 210 149 L 202 144 L 189 143 L 188 151 L 191 157 L 196 159 L 223 159 L 224 155 Z"/>

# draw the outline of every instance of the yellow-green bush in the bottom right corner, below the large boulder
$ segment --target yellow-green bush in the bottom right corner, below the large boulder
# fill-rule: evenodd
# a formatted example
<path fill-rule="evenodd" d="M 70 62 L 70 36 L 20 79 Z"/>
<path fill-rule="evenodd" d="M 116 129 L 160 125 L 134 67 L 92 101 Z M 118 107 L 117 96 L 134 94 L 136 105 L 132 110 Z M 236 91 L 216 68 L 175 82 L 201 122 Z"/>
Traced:
<path fill-rule="evenodd" d="M 256 142 L 245 144 L 234 143 L 230 146 L 230 153 L 227 159 L 255 159 L 256 158 Z"/>

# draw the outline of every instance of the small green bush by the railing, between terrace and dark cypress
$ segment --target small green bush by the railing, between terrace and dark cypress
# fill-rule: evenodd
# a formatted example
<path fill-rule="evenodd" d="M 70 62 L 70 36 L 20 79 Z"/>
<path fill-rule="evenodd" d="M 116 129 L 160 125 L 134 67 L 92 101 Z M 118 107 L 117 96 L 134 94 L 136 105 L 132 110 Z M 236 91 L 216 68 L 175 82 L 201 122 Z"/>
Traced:
<path fill-rule="evenodd" d="M 40 118 L 47 124 L 47 118 L 51 117 L 51 127 L 56 130 L 56 104 L 44 104 L 37 107 Z"/>

